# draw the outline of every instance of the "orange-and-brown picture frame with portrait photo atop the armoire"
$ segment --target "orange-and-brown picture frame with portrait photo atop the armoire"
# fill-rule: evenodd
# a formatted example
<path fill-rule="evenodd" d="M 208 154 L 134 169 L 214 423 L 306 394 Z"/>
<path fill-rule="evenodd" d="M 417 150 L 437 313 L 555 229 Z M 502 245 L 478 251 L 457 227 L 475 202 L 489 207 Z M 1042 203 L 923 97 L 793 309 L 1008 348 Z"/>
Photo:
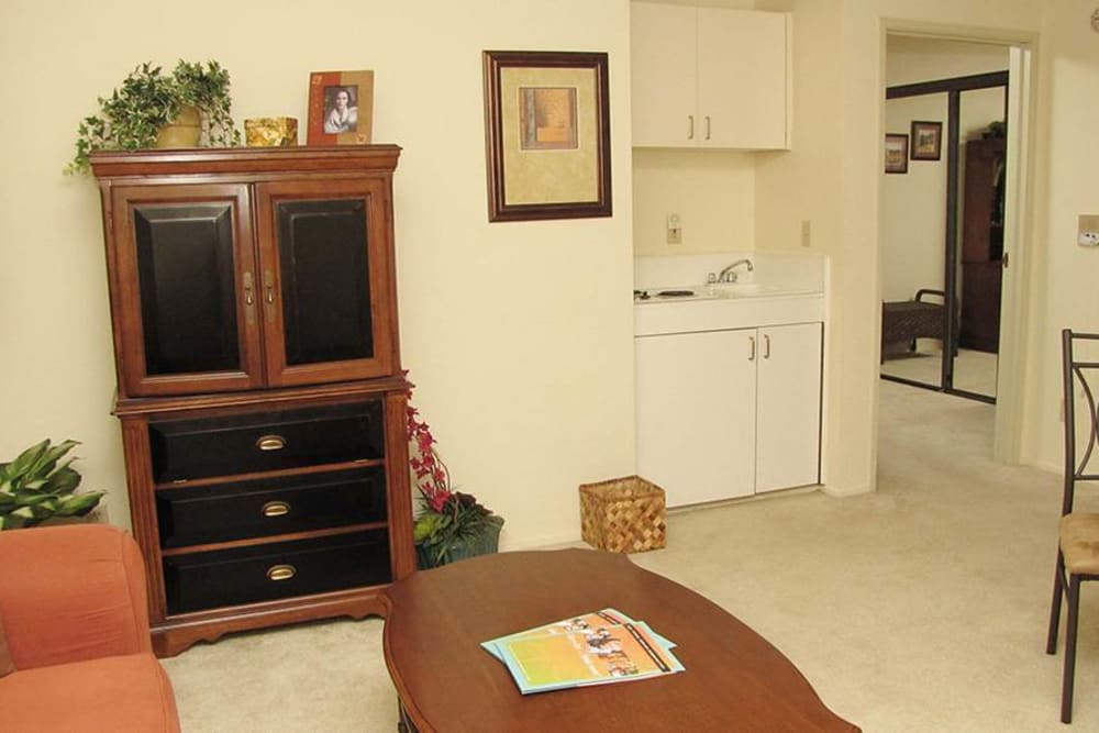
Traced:
<path fill-rule="evenodd" d="M 309 145 L 364 145 L 374 122 L 374 71 L 309 75 Z"/>

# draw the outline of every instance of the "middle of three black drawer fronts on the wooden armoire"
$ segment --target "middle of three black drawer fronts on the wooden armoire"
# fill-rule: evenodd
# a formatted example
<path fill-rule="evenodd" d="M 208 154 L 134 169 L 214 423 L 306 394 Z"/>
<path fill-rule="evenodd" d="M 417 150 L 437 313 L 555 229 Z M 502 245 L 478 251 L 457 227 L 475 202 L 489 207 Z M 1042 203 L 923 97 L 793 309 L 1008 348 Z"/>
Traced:
<path fill-rule="evenodd" d="M 386 471 L 369 466 L 162 489 L 156 492 L 156 515 L 163 547 L 382 522 Z"/>

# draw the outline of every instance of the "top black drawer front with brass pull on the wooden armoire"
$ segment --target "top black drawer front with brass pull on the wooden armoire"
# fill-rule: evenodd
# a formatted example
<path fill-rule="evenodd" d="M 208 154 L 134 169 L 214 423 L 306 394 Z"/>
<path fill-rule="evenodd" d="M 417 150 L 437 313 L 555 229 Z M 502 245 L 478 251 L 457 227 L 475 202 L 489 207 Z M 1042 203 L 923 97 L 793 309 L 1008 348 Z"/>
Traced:
<path fill-rule="evenodd" d="M 154 422 L 148 433 L 157 484 L 385 455 L 379 401 Z"/>

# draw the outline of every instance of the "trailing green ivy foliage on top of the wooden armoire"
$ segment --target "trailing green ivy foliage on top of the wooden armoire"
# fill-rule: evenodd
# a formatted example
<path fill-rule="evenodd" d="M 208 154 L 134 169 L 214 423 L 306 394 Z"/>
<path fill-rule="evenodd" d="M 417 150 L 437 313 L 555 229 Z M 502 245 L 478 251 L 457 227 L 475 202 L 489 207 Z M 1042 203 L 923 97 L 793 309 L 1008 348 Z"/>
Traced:
<path fill-rule="evenodd" d="M 240 145 L 241 133 L 230 114 L 229 71 L 218 62 L 176 64 L 170 75 L 144 63 L 122 80 L 110 97 L 100 97 L 99 114 L 85 118 L 77 129 L 76 156 L 66 173 L 87 173 L 92 151 L 136 151 L 153 147 L 160 129 L 185 107 L 202 120 L 201 145 Z"/>

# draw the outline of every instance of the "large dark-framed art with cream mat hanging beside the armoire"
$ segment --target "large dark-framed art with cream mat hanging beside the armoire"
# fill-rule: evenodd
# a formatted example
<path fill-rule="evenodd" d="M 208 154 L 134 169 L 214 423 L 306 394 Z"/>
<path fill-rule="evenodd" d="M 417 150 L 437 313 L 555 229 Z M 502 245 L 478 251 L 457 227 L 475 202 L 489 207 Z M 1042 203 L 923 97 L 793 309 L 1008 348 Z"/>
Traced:
<path fill-rule="evenodd" d="M 606 53 L 486 51 L 489 221 L 611 215 Z"/>

